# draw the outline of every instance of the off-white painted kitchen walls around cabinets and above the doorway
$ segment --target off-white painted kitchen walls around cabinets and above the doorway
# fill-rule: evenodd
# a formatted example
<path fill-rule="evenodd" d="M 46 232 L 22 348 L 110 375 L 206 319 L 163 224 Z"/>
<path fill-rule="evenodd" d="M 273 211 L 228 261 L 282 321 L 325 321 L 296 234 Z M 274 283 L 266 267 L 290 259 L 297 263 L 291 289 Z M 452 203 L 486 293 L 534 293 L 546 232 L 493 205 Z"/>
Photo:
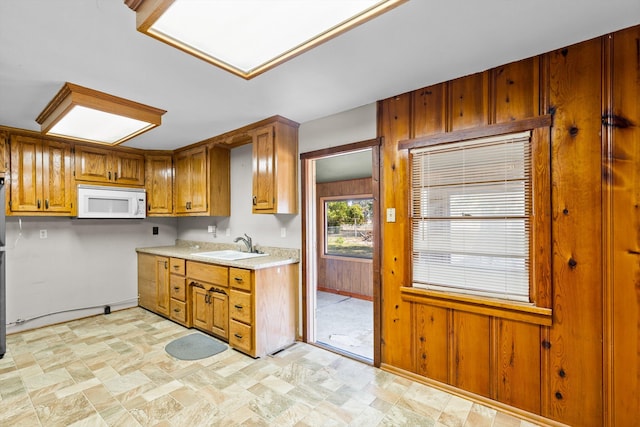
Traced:
<path fill-rule="evenodd" d="M 376 106 L 370 104 L 303 123 L 299 151 L 375 136 Z M 300 214 L 251 213 L 251 179 L 251 146 L 233 149 L 231 217 L 144 220 L 22 217 L 21 233 L 19 218 L 7 218 L 7 322 L 39 317 L 19 326 L 9 325 L 7 332 L 102 313 L 104 305 L 111 305 L 114 310 L 136 305 L 136 247 L 172 245 L 176 238 L 231 243 L 247 233 L 258 245 L 301 249 Z M 217 237 L 207 233 L 208 225 L 217 226 Z M 160 228 L 159 235 L 152 235 L 153 226 Z M 281 237 L 283 228 L 285 237 Z M 40 239 L 40 230 L 47 230 L 47 239 Z M 72 311 L 49 315 L 66 310 Z"/>

